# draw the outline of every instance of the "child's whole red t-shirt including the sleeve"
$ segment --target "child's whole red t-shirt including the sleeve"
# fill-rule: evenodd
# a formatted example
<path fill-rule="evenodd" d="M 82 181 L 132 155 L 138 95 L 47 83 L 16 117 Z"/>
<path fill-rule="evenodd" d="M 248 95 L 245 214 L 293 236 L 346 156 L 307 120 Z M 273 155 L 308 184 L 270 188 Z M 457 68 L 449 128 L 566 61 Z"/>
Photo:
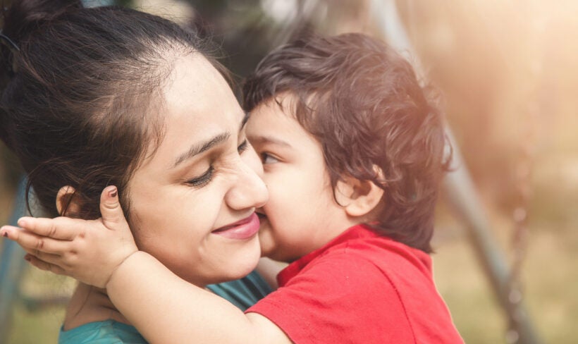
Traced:
<path fill-rule="evenodd" d="M 463 343 L 433 284 L 428 254 L 349 228 L 277 276 L 279 288 L 247 312 L 294 343 Z"/>

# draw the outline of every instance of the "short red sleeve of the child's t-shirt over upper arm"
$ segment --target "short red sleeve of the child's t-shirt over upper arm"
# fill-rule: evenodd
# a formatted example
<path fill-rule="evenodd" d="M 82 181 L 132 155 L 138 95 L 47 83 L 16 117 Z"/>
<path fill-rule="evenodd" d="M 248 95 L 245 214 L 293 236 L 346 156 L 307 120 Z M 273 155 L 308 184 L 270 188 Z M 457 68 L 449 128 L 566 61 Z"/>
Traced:
<path fill-rule="evenodd" d="M 390 278 L 355 254 L 319 257 L 247 312 L 267 317 L 294 343 L 415 340 Z"/>

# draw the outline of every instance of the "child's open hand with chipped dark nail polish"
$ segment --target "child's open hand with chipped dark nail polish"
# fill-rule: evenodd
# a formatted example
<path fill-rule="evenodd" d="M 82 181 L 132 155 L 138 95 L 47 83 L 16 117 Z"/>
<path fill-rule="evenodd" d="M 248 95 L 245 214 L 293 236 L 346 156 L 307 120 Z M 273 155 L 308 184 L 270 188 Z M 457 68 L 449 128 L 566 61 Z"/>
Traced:
<path fill-rule="evenodd" d="M 18 242 L 28 252 L 25 259 L 37 268 L 106 288 L 116 268 L 138 249 L 116 187 L 102 191 L 100 212 L 102 218 L 92 221 L 23 217 L 18 220 L 21 228 L 4 226 L 0 235 Z"/>

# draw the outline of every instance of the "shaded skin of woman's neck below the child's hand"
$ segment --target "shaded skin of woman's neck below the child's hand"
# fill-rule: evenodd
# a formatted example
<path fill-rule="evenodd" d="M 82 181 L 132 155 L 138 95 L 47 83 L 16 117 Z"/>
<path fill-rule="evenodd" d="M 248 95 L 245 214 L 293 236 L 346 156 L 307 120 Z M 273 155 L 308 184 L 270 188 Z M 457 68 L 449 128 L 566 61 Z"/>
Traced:
<path fill-rule="evenodd" d="M 109 319 L 130 325 L 123 314 L 114 307 L 106 295 L 106 290 L 79 283 L 68 302 L 64 330 Z"/>

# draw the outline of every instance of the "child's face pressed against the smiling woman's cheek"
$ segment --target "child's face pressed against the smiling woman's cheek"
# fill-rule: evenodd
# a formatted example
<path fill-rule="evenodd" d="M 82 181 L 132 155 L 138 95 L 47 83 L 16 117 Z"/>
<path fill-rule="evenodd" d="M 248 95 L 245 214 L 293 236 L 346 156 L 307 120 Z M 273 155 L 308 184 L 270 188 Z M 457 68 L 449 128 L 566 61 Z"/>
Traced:
<path fill-rule="evenodd" d="M 289 95 L 251 113 L 247 137 L 261 157 L 269 202 L 257 209 L 262 254 L 291 262 L 318 249 L 352 225 L 333 199 L 321 145 L 284 113 Z"/>

